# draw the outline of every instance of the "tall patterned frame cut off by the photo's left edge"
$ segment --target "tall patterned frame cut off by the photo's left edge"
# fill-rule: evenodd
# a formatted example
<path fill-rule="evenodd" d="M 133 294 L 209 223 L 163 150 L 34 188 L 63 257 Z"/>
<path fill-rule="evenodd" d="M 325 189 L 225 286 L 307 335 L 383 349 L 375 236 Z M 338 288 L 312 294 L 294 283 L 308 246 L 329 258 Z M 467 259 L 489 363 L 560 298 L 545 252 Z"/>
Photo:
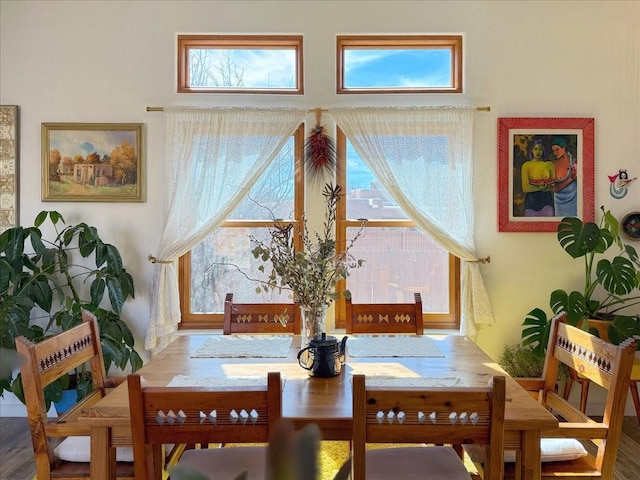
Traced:
<path fill-rule="evenodd" d="M 0 233 L 18 226 L 18 106 L 0 105 Z"/>

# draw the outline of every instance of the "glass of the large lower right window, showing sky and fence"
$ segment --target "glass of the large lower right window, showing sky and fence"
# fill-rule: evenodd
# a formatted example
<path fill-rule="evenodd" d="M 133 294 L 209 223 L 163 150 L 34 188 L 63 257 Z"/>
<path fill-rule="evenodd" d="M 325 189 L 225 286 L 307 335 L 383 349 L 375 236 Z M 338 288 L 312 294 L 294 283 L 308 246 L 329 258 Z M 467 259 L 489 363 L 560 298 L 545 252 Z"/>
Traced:
<path fill-rule="evenodd" d="M 407 148 L 416 142 L 430 144 L 430 150 L 435 152 L 433 168 L 446 174 L 447 162 L 442 154 L 446 142 L 440 137 L 414 138 Z M 451 313 L 449 253 L 415 227 L 384 224 L 388 220 L 406 221 L 409 217 L 348 140 L 346 162 L 347 218 L 369 220 L 364 235 L 351 249 L 355 258 L 365 260 L 364 266 L 353 270 L 347 279 L 354 303 L 411 303 L 413 294 L 420 292 L 424 313 Z M 447 198 L 444 193 L 443 198 Z M 358 230 L 359 227 L 347 228 L 347 243 Z"/>

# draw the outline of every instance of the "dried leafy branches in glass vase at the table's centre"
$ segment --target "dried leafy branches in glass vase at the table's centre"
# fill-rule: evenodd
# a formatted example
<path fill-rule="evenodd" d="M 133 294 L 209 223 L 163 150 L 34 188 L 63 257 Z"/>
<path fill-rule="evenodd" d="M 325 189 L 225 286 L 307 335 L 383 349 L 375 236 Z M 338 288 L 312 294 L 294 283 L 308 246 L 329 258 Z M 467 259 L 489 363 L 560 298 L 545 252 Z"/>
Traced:
<path fill-rule="evenodd" d="M 335 289 L 338 281 L 346 279 L 351 268 L 359 268 L 364 263 L 349 254 L 351 246 L 362 234 L 364 220 L 361 229 L 344 251 L 338 252 L 336 249 L 334 230 L 341 191 L 340 185 L 324 186 L 322 195 L 326 202 L 325 220 L 322 232 L 316 233 L 315 237 L 309 233 L 307 218 L 303 215 L 299 232 L 290 223 L 276 221 L 269 229 L 268 243 L 251 238 L 254 243 L 251 250 L 253 256 L 271 264 L 267 280 L 261 282 L 258 290 L 284 289 L 292 292 L 302 313 L 303 346 L 310 338 L 324 332 L 326 309 L 339 296 Z M 302 251 L 296 251 L 296 236 L 302 241 Z M 259 270 L 264 272 L 264 265 Z M 349 291 L 346 290 L 344 295 L 348 297 Z"/>

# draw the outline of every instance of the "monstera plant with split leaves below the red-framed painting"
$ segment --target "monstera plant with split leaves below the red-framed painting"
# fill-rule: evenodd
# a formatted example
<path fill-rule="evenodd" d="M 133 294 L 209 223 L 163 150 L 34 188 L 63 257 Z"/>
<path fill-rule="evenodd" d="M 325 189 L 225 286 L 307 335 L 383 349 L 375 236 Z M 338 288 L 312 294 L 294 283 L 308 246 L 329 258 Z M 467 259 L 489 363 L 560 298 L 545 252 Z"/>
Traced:
<path fill-rule="evenodd" d="M 553 314 L 541 308 L 531 310 L 523 322 L 523 345 L 531 345 L 544 356 L 549 339 L 551 318 L 567 312 L 567 323 L 578 325 L 608 341 L 619 344 L 640 335 L 640 316 L 623 315 L 622 309 L 640 305 L 640 260 L 638 253 L 620 238 L 618 220 L 601 207 L 600 224 L 565 217 L 557 229 L 560 246 L 584 268 L 582 291 L 554 290 L 549 306 Z M 594 327 L 593 321 L 605 321 Z"/>

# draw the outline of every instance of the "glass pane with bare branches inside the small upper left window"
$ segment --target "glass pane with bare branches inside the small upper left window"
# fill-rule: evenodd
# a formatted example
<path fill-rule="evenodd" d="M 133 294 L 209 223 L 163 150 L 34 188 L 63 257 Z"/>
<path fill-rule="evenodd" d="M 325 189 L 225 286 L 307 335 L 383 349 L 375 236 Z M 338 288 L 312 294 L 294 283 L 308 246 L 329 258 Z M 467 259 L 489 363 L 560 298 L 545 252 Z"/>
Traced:
<path fill-rule="evenodd" d="M 189 49 L 193 88 L 296 88 L 293 49 Z"/>

